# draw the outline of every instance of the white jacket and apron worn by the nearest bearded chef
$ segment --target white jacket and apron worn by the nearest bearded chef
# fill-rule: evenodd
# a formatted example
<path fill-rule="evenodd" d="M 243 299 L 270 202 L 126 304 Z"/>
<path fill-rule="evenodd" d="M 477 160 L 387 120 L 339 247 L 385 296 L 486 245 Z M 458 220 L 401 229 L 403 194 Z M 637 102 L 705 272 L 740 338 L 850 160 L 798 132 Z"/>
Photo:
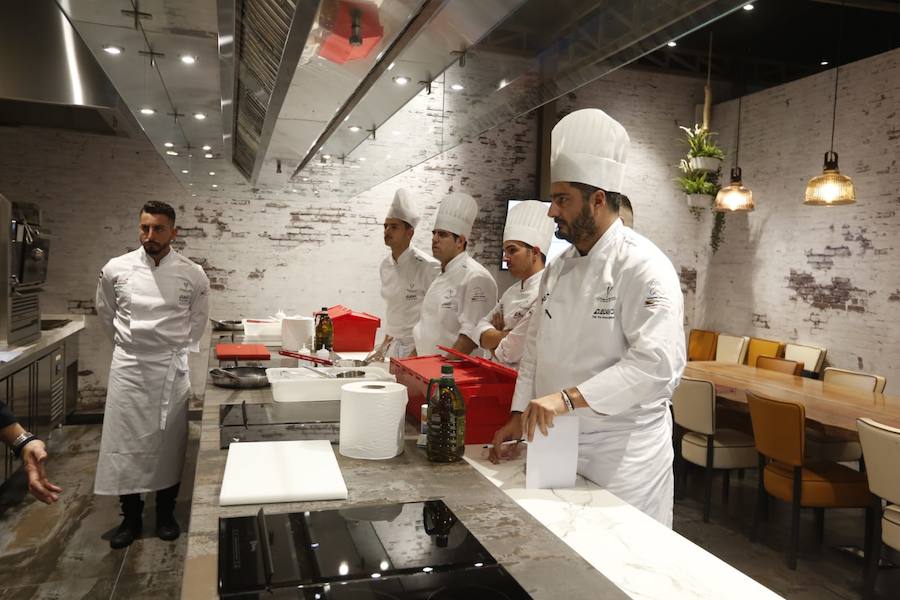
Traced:
<path fill-rule="evenodd" d="M 671 526 L 669 403 L 685 365 L 678 275 L 652 242 L 616 221 L 587 256 L 544 269 L 513 396 L 577 387 L 578 472 Z"/>

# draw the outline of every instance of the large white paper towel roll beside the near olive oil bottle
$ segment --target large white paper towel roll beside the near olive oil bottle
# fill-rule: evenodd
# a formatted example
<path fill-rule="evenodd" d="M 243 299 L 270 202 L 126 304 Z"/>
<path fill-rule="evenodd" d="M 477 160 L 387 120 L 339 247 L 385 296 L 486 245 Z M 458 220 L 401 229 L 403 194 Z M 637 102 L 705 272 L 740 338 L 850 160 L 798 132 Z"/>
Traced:
<path fill-rule="evenodd" d="M 403 452 L 406 386 L 357 381 L 341 387 L 340 453 L 383 460 Z"/>

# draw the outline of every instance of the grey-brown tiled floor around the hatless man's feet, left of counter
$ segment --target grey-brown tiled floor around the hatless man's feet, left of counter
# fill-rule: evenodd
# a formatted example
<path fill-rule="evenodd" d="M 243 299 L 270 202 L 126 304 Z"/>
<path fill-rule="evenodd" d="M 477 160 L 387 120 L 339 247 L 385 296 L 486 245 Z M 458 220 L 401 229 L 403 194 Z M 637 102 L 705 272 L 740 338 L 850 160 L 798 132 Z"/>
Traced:
<path fill-rule="evenodd" d="M 48 475 L 64 493 L 53 506 L 25 492 L 21 472 L 0 494 L 0 600 L 178 598 L 187 537 L 155 536 L 152 501 L 144 533 L 124 550 L 109 537 L 121 522 L 114 497 L 94 496 L 100 426 L 65 427 L 53 437 Z M 187 529 L 199 429 L 192 424 L 176 517 Z M 152 495 L 151 495 L 152 496 Z"/>

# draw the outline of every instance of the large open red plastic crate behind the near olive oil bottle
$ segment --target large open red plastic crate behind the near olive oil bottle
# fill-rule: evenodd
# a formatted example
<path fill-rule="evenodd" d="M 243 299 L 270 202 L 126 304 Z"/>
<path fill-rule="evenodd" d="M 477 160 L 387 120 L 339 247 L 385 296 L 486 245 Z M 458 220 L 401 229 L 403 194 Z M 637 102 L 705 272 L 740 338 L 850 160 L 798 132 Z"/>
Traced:
<path fill-rule="evenodd" d="M 518 373 L 495 362 L 468 356 L 443 346 L 453 354 L 392 358 L 391 373 L 406 386 L 409 402 L 406 416 L 421 421 L 421 407 L 427 402 L 425 391 L 430 379 L 440 379 L 443 365 L 453 366 L 453 379 L 466 404 L 466 443 L 487 444 L 494 433 L 509 420 L 509 408 Z"/>

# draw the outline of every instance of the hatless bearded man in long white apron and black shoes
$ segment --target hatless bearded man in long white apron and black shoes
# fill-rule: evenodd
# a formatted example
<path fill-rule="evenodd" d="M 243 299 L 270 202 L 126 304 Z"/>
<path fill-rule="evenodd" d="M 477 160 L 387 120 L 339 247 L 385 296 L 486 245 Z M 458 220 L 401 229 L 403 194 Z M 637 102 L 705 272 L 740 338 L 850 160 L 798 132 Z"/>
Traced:
<path fill-rule="evenodd" d="M 199 351 L 209 317 L 209 279 L 171 247 L 174 209 L 148 202 L 140 220 L 141 248 L 106 263 L 97 284 L 97 315 L 114 348 L 94 493 L 122 504 L 113 548 L 140 536 L 145 492 L 156 492 L 157 535 L 181 532 L 173 511 L 187 446 L 188 351 Z"/>

